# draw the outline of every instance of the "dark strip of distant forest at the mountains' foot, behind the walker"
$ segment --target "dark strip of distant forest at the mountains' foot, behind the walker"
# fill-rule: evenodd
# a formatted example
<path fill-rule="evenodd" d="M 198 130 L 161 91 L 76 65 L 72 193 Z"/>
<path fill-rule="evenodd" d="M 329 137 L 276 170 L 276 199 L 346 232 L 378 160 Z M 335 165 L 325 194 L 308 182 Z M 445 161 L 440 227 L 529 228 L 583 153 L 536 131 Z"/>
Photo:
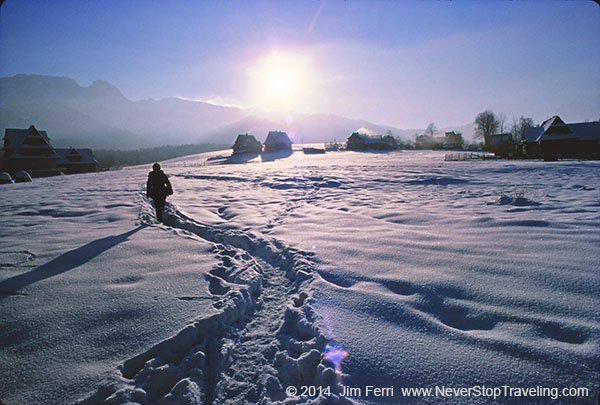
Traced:
<path fill-rule="evenodd" d="M 136 150 L 96 149 L 94 156 L 98 161 L 98 170 L 119 169 L 125 166 L 135 166 L 147 163 L 160 162 L 180 156 L 196 153 L 212 152 L 228 149 L 230 145 L 216 143 L 167 145 L 155 148 L 142 148 Z"/>

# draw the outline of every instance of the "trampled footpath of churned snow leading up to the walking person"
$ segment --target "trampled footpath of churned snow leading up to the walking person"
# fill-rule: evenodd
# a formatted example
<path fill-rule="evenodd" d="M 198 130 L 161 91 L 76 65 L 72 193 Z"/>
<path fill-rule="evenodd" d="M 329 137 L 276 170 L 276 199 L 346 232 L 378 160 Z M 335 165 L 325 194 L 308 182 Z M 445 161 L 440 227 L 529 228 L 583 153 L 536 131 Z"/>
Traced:
<path fill-rule="evenodd" d="M 142 200 L 144 200 L 142 198 Z M 142 203 L 140 222 L 152 223 Z M 205 273 L 219 312 L 125 361 L 122 378 L 84 404 L 347 403 L 328 341 L 310 305 L 316 259 L 261 235 L 204 225 L 167 205 L 165 230 L 213 244 L 219 264 Z M 179 297 L 185 300 L 202 297 Z M 333 395 L 288 397 L 286 388 L 329 387 Z"/>

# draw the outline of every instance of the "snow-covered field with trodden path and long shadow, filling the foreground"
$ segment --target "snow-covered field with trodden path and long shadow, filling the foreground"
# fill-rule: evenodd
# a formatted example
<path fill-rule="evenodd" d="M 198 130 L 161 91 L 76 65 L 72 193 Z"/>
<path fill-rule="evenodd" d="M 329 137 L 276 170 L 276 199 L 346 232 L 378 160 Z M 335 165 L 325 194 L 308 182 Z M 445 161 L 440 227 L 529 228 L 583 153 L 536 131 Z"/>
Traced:
<path fill-rule="evenodd" d="M 223 154 L 0 187 L 3 403 L 597 402 L 600 162 Z"/>

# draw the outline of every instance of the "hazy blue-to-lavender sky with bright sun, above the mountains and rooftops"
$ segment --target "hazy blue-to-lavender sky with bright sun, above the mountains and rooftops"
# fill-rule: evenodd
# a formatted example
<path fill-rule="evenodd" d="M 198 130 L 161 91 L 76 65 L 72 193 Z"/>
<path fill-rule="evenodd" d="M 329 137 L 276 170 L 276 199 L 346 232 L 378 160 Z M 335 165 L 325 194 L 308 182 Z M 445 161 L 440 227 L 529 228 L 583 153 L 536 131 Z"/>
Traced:
<path fill-rule="evenodd" d="M 0 76 L 105 79 L 179 96 L 400 128 L 486 108 L 600 119 L 593 2 L 28 1 L 0 8 Z"/>

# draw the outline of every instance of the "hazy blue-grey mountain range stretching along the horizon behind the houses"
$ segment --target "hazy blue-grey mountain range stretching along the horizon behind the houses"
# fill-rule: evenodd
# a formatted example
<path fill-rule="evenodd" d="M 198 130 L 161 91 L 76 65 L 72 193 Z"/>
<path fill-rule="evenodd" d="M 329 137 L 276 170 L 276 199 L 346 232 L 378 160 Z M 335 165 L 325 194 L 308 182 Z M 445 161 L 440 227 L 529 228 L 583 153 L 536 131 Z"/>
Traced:
<path fill-rule="evenodd" d="M 46 130 L 57 147 L 137 149 L 186 143 L 233 144 L 237 134 L 264 141 L 270 130 L 286 131 L 296 143 L 345 140 L 363 129 L 412 139 L 422 129 L 399 129 L 332 114 L 257 113 L 181 98 L 127 99 L 104 80 L 87 87 L 67 77 L 0 78 L 0 128 Z M 444 128 L 471 137 L 473 124 Z"/>

